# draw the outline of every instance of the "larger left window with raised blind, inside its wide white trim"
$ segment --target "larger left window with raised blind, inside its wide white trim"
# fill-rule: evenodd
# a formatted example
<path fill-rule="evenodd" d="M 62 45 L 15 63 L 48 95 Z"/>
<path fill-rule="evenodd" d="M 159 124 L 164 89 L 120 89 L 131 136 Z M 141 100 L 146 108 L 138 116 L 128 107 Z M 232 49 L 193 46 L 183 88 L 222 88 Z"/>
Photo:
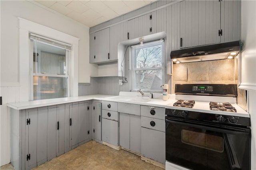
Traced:
<path fill-rule="evenodd" d="M 68 64 L 71 46 L 30 34 L 33 44 L 32 100 L 69 96 Z"/>

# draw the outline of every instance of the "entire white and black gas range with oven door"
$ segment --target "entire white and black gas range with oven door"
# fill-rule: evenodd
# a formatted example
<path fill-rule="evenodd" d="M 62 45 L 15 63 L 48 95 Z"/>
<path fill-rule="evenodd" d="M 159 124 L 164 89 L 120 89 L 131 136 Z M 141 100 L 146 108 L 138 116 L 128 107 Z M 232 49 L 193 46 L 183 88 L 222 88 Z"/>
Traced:
<path fill-rule="evenodd" d="M 250 115 L 236 84 L 176 84 L 166 106 L 166 169 L 250 169 Z"/>

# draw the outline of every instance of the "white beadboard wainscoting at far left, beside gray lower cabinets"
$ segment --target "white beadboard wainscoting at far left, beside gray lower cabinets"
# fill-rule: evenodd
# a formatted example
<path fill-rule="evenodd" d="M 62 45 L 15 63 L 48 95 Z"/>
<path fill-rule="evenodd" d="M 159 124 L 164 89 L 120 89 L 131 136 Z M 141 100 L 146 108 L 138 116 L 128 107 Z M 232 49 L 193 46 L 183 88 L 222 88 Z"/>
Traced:
<path fill-rule="evenodd" d="M 0 86 L 0 166 L 10 163 L 10 109 L 7 103 L 19 102 L 19 84 L 2 83 Z"/>

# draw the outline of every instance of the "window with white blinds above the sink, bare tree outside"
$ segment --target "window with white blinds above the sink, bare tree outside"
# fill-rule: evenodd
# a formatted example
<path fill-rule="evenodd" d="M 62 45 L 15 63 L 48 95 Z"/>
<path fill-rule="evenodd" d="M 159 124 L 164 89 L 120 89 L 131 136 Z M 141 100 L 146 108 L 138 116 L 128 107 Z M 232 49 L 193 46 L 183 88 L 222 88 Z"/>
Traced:
<path fill-rule="evenodd" d="M 131 87 L 148 92 L 162 92 L 164 84 L 164 41 L 132 46 Z"/>

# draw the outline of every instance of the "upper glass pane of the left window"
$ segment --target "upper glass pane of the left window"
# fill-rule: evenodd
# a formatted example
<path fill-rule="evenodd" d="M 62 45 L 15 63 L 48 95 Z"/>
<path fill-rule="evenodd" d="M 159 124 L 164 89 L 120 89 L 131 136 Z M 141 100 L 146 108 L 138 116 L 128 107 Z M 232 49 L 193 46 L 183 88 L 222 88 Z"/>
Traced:
<path fill-rule="evenodd" d="M 66 50 L 34 41 L 33 56 L 34 73 L 66 74 Z"/>

